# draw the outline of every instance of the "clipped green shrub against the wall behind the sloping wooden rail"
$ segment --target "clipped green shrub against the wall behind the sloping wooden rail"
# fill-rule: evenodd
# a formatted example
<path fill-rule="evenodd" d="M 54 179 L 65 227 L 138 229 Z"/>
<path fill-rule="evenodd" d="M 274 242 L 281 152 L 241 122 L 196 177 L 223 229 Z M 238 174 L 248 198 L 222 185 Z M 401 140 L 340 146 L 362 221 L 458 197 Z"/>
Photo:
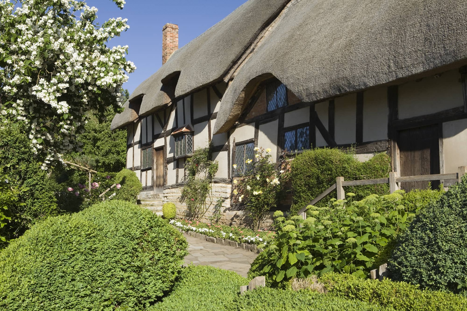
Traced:
<path fill-rule="evenodd" d="M 290 163 L 290 180 L 294 191 L 291 214 L 297 214 L 297 211 L 331 187 L 338 176 L 343 176 L 345 180 L 384 178 L 389 176 L 390 167 L 389 156 L 386 153 L 377 153 L 368 161 L 360 162 L 351 151 L 344 152 L 338 148 L 307 150 L 298 154 Z M 356 200 L 370 194 L 389 193 L 388 184 L 345 189 L 346 192 L 357 194 Z"/>

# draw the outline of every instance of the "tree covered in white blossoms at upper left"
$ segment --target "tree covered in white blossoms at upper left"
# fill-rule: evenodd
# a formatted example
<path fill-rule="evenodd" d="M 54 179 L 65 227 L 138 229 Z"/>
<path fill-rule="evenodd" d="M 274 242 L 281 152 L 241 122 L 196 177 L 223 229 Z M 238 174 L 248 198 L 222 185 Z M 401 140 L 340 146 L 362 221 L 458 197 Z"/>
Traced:
<path fill-rule="evenodd" d="M 129 27 L 121 18 L 99 26 L 96 13 L 76 0 L 0 0 L 0 123 L 22 126 L 44 169 L 79 148 L 86 111 L 121 111 L 135 67 L 127 46 L 107 42 Z"/>

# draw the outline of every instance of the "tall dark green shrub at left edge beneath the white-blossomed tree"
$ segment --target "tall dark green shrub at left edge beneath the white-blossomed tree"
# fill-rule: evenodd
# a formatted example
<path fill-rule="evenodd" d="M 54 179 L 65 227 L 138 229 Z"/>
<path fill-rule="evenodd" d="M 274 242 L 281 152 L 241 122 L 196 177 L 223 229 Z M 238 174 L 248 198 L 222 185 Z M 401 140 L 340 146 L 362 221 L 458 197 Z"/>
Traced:
<path fill-rule="evenodd" d="M 21 202 L 18 208 L 16 234 L 21 234 L 36 221 L 57 215 L 57 200 L 47 172 L 34 157 L 30 141 L 19 126 L 0 128 L 0 175 L 18 189 Z"/>

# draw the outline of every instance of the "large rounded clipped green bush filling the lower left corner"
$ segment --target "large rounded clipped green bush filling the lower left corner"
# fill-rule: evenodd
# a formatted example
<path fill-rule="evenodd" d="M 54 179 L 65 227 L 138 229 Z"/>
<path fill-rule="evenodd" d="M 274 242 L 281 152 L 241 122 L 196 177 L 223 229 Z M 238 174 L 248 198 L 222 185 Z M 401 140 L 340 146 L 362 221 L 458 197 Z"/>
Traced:
<path fill-rule="evenodd" d="M 143 310 L 172 289 L 186 248 L 129 202 L 50 217 L 0 252 L 0 310 Z"/>

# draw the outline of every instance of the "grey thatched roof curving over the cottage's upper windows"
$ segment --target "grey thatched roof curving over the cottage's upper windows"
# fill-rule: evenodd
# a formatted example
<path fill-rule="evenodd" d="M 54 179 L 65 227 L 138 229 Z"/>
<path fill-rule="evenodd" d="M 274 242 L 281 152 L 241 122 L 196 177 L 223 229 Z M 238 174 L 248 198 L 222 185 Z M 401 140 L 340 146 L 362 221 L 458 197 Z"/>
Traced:
<path fill-rule="evenodd" d="M 226 89 L 215 133 L 230 128 L 249 92 L 270 76 L 309 102 L 467 63 L 465 0 L 293 0 L 279 15 L 284 2 L 250 0 L 239 7 L 174 53 L 153 82 L 142 83 L 143 101 L 177 71 L 176 97 L 219 81 L 272 17 Z M 163 101 L 148 98 L 140 114 Z"/>

